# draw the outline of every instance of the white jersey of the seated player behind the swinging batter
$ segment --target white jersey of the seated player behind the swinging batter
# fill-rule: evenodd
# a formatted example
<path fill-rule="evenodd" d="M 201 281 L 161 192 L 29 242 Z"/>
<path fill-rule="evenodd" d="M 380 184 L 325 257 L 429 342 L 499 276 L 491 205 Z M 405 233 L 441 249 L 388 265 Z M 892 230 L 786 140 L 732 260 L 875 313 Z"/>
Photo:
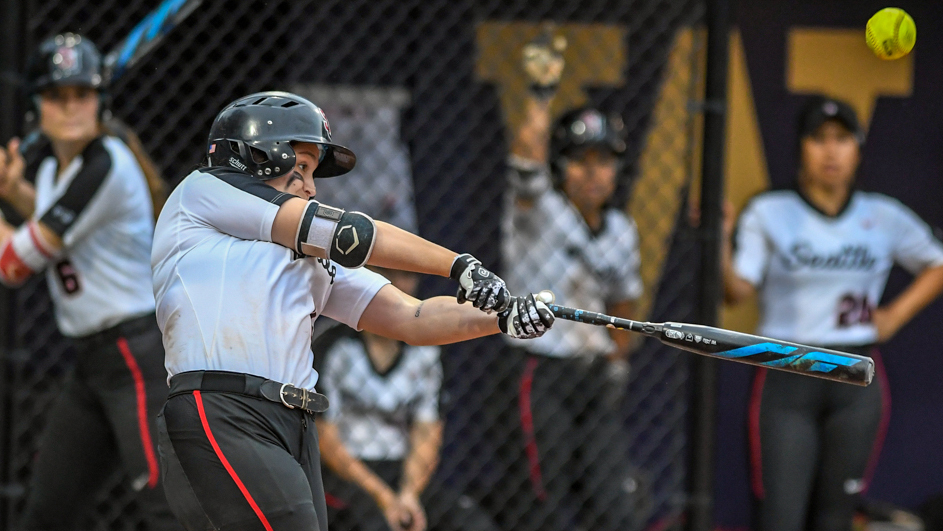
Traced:
<path fill-rule="evenodd" d="M 351 455 L 404 459 L 411 423 L 439 420 L 440 348 L 403 345 L 393 366 L 380 373 L 360 337 L 348 334 L 330 343 L 316 353 L 325 356 L 318 382 L 331 402 L 325 418 L 337 425 Z M 319 344 L 315 341 L 316 350 Z"/>

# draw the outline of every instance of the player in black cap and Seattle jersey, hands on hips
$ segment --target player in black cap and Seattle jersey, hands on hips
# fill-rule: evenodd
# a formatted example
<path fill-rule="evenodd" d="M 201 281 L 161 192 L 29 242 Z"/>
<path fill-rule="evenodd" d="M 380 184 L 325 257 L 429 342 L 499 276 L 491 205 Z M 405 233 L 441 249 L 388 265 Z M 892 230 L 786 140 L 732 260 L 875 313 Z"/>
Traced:
<path fill-rule="evenodd" d="M 869 355 L 866 388 L 757 372 L 750 407 L 762 531 L 850 530 L 886 428 L 887 381 L 875 343 L 943 291 L 943 244 L 907 207 L 854 188 L 863 132 L 845 102 L 816 96 L 800 115 L 794 190 L 766 192 L 743 211 L 724 253 L 727 299 L 759 296 L 759 333 Z M 916 275 L 877 306 L 891 266 Z"/>

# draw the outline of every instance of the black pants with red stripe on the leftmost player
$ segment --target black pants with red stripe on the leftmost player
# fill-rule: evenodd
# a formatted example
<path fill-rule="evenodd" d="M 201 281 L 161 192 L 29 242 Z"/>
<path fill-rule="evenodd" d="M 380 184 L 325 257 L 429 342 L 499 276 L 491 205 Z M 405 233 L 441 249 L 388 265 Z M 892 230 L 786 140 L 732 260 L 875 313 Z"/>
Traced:
<path fill-rule="evenodd" d="M 179 530 L 160 488 L 157 411 L 167 398 L 153 314 L 74 340 L 77 358 L 40 440 L 20 527 L 73 530 L 120 467 L 147 529 Z"/>

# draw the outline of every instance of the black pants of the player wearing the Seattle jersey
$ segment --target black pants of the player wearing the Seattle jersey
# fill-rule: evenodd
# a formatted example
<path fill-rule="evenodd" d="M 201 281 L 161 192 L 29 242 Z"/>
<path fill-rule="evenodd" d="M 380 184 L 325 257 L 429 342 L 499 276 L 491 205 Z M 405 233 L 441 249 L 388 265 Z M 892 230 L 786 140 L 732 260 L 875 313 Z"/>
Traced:
<path fill-rule="evenodd" d="M 875 362 L 868 387 L 757 371 L 749 421 L 761 531 L 851 531 L 887 422 L 887 380 Z"/>

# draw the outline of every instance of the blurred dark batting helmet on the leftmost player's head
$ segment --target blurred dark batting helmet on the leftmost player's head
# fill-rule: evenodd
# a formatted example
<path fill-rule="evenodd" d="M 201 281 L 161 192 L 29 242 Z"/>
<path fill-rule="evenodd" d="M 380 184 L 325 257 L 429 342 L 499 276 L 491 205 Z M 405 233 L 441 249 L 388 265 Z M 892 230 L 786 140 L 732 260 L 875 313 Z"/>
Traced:
<path fill-rule="evenodd" d="M 35 95 L 49 87 L 78 85 L 103 88 L 102 57 L 92 41 L 75 33 L 46 39 L 26 68 L 28 92 Z"/>

